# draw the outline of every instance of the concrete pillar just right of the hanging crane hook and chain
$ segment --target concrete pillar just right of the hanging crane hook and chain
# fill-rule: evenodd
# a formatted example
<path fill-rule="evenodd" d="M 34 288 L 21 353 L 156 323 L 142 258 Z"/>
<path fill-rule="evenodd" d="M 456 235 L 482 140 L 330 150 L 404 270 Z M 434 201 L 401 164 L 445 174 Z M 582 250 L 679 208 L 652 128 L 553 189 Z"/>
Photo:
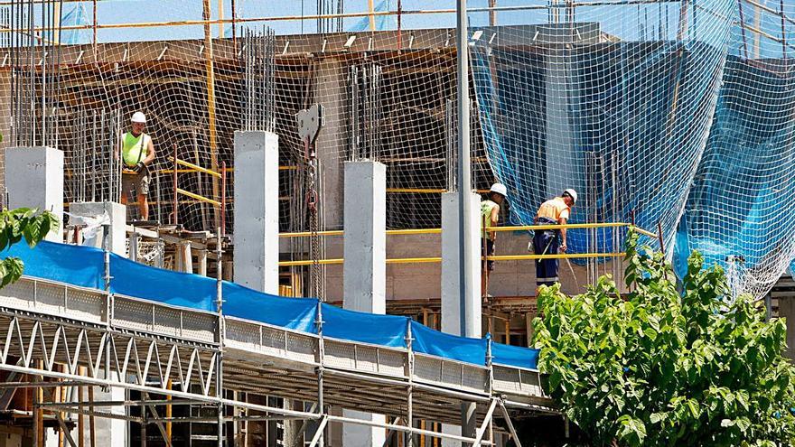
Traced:
<path fill-rule="evenodd" d="M 387 168 L 376 162 L 346 162 L 345 165 L 345 263 L 343 264 L 345 309 L 387 312 Z M 383 414 L 345 410 L 346 417 L 384 424 Z M 344 424 L 342 445 L 383 445 L 386 431 L 379 427 Z"/>

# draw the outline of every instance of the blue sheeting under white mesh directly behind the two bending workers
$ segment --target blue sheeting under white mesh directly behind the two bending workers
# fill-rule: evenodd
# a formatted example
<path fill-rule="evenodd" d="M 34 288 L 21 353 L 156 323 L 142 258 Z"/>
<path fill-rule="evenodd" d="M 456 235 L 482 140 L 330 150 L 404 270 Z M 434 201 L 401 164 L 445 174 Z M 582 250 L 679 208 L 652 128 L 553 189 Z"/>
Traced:
<path fill-rule="evenodd" d="M 531 223 L 540 203 L 572 187 L 580 197 L 569 223 L 634 216 L 641 228 L 659 222 L 671 236 L 725 60 L 712 43 L 550 44 L 545 51 L 475 45 L 483 143 L 508 186 L 511 218 Z M 613 252 L 625 231 L 568 235 L 571 253 Z"/>

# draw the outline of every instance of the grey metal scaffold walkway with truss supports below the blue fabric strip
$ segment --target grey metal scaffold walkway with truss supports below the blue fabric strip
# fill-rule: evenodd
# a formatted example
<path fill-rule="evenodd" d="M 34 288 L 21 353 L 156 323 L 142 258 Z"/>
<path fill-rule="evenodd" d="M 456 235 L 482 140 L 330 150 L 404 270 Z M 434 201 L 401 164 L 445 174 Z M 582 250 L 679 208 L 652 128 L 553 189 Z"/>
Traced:
<path fill-rule="evenodd" d="M 322 442 L 329 423 L 491 445 L 488 433 L 497 411 L 511 436 L 516 436 L 511 414 L 554 414 L 538 371 L 493 364 L 491 339 L 479 366 L 415 352 L 410 329 L 406 349 L 324 337 L 322 315 L 315 335 L 225 317 L 222 308 L 201 312 L 33 277 L 5 287 L 0 299 L 0 370 L 28 377 L 9 382 L 16 389 L 44 390 L 46 397 L 34 411 L 53 412 L 71 445 L 77 444 L 64 414 L 154 425 L 169 445 L 166 424 L 216 422 L 220 440 L 232 424 L 291 419 L 317 423 L 307 432 L 310 445 Z M 84 402 L 74 392 L 78 386 L 120 387 L 144 398 Z M 59 387 L 70 390 L 64 395 L 70 397 L 54 399 L 48 390 Z M 243 393 L 314 406 L 297 411 L 258 405 L 235 397 Z M 458 424 L 459 402 L 477 405 L 480 428 L 474 438 L 416 428 L 419 419 Z M 158 412 L 158 407 L 178 405 L 209 405 L 217 411 L 179 417 Z M 376 424 L 333 415 L 329 405 L 390 414 L 402 422 Z M 114 406 L 139 407 L 141 413 L 107 410 Z"/>

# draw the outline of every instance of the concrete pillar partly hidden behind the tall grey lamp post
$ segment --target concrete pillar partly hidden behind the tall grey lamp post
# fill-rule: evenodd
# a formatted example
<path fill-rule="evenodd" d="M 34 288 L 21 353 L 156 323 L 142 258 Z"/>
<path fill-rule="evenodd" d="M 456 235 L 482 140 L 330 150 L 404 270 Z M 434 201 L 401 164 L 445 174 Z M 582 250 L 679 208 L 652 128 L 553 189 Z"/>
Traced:
<path fill-rule="evenodd" d="M 481 198 L 472 192 L 471 235 L 472 247 L 481 246 L 480 213 Z M 442 331 L 464 337 L 481 338 L 482 303 L 481 303 L 481 250 L 475 249 L 470 259 L 461 255 L 458 192 L 442 194 Z M 461 284 L 461 266 L 470 270 L 469 296 L 463 296 Z M 463 307 L 463 309 L 462 309 Z M 462 311 L 466 318 L 462 324 Z M 461 434 L 458 425 L 442 424 L 442 433 Z M 458 447 L 461 442 L 442 440 L 444 447 Z"/>

